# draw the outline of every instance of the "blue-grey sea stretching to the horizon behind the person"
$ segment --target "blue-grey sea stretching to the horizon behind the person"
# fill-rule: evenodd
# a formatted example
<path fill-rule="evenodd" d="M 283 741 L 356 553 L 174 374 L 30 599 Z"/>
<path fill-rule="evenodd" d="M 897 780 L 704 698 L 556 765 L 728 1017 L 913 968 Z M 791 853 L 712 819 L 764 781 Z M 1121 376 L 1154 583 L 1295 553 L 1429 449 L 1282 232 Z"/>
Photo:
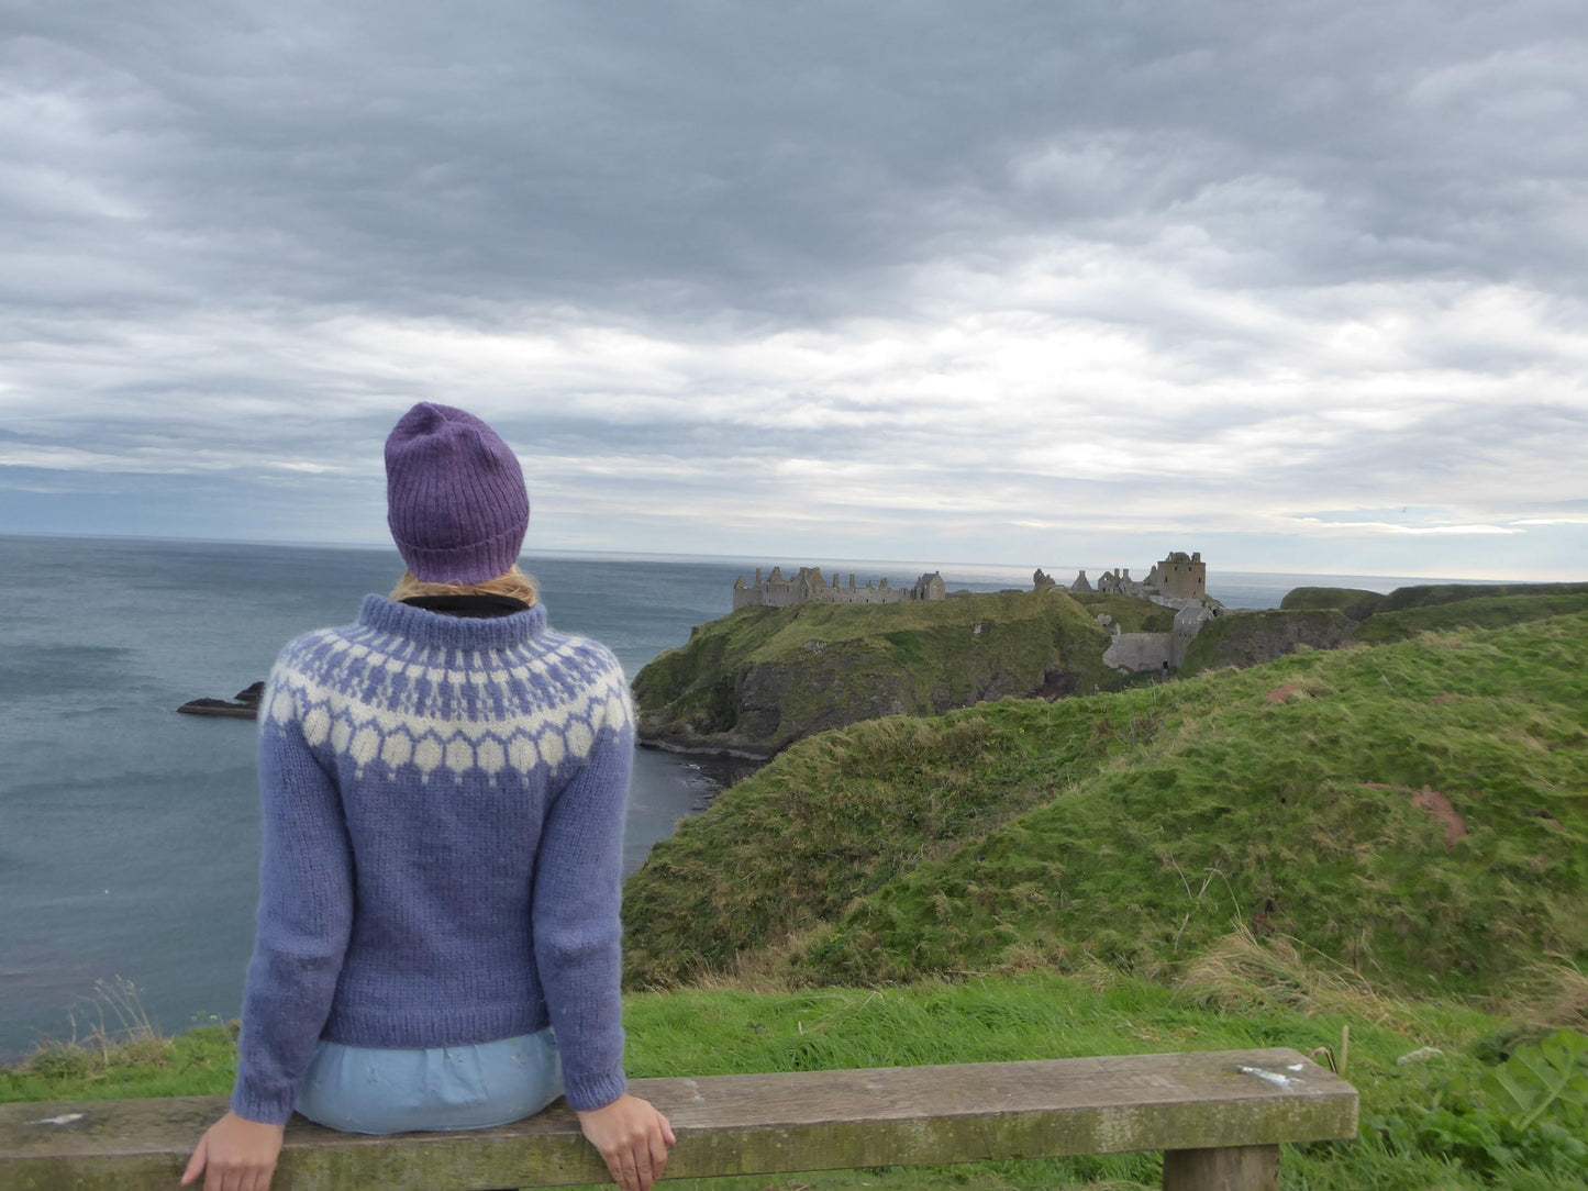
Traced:
<path fill-rule="evenodd" d="M 735 578 L 800 562 L 522 559 L 551 624 L 605 642 L 630 676 L 726 615 Z M 940 570 L 950 591 L 1029 588 L 1032 575 L 838 562 L 894 586 Z M 1077 570 L 1046 569 L 1061 580 Z M 365 592 L 400 573 L 391 548 L 0 535 L 0 1059 L 119 1029 L 127 997 L 167 1034 L 237 1016 L 257 896 L 256 727 L 176 708 L 230 699 L 289 638 L 349 622 Z M 1272 608 L 1312 583 L 1428 581 L 1215 570 L 1208 594 Z M 745 772 L 638 750 L 626 872 Z"/>

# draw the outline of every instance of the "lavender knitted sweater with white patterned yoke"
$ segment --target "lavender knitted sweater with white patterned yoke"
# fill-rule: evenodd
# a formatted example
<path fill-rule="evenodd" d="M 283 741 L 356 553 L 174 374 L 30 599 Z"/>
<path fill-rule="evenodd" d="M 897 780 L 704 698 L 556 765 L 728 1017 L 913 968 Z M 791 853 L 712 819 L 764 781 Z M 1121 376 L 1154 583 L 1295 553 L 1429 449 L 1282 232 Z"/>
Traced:
<path fill-rule="evenodd" d="M 627 684 L 543 608 L 370 596 L 260 702 L 259 935 L 232 1108 L 283 1124 L 319 1039 L 461 1046 L 548 1023 L 573 1108 L 622 1096 Z"/>

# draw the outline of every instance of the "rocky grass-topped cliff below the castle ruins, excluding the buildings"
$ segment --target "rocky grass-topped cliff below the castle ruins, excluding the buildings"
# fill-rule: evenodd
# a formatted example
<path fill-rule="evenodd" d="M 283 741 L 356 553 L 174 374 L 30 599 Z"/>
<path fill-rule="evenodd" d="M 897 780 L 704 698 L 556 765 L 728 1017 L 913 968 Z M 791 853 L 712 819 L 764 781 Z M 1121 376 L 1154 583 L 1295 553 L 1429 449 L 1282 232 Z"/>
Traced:
<path fill-rule="evenodd" d="M 1113 689 L 1108 634 L 1056 589 L 740 608 L 634 680 L 640 738 L 769 756 L 815 732 L 1007 696 Z"/>

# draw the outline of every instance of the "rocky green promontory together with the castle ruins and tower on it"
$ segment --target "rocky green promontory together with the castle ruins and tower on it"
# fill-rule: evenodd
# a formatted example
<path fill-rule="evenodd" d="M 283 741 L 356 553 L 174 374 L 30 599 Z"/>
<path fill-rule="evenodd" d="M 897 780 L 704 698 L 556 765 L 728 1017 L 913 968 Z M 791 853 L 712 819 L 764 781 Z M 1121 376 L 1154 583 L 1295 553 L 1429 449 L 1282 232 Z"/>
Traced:
<path fill-rule="evenodd" d="M 989 699 L 1112 691 L 1178 667 L 1223 611 L 1201 554 L 1174 551 L 1147 580 L 1086 572 L 1064 588 L 950 592 L 940 572 L 891 588 L 819 567 L 756 570 L 734 611 L 697 626 L 634 680 L 640 738 L 657 748 L 772 756 L 794 740 L 888 715 L 940 715 Z"/>

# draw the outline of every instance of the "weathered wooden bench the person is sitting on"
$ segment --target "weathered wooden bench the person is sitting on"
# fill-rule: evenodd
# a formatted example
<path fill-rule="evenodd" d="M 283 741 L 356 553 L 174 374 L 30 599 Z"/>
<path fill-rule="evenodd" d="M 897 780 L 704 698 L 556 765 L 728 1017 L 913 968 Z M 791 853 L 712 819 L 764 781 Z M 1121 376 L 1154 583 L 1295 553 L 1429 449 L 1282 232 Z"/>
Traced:
<path fill-rule="evenodd" d="M 1356 1137 L 1356 1089 L 1293 1050 L 634 1080 L 673 1123 L 669 1178 L 1162 1150 L 1166 1191 L 1280 1185 L 1282 1142 Z M 218 1097 L 0 1105 L 3 1191 L 173 1191 Z M 600 1183 L 559 1100 L 472 1134 L 294 1118 L 275 1191 Z"/>

